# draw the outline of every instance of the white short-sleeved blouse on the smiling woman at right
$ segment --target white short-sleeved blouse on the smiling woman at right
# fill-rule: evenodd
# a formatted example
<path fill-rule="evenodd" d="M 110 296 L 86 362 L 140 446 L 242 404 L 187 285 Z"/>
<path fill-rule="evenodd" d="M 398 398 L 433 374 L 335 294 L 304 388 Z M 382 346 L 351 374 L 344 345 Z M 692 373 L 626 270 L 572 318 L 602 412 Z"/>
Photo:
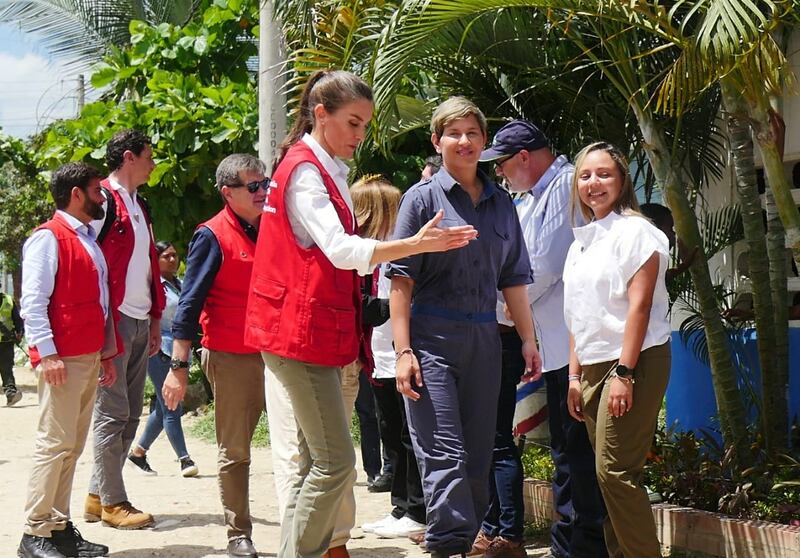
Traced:
<path fill-rule="evenodd" d="M 641 350 L 670 337 L 669 295 L 664 274 L 667 237 L 638 215 L 611 212 L 574 229 L 575 242 L 564 265 L 564 318 L 582 365 L 618 359 L 628 317 L 628 282 L 654 254 L 658 279 Z"/>

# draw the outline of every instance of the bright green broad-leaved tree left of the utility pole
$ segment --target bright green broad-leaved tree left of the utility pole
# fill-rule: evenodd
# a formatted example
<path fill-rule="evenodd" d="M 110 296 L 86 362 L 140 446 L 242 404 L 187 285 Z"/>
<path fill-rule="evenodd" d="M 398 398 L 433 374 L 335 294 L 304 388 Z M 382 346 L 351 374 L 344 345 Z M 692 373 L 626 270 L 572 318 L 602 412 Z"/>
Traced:
<path fill-rule="evenodd" d="M 39 171 L 67 161 L 103 168 L 111 135 L 141 129 L 153 140 L 157 163 L 151 186 L 140 190 L 154 209 L 156 234 L 185 245 L 197 223 L 220 207 L 217 163 L 254 151 L 257 95 L 247 63 L 257 54 L 257 9 L 255 0 L 217 0 L 184 26 L 132 21 L 130 45 L 111 47 L 92 76 L 108 93 L 80 118 L 57 122 L 34 140 L 27 181 L 41 188 L 47 175 Z M 19 223 L 26 232 L 36 224 Z M 18 242 L 8 246 L 18 251 Z"/>

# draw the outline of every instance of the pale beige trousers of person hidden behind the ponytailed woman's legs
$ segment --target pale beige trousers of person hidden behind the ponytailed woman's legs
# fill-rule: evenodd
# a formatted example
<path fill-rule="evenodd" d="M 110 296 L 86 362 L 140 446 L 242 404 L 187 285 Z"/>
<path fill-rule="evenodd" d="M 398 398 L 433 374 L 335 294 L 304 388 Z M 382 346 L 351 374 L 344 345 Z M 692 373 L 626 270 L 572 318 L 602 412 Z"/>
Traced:
<path fill-rule="evenodd" d="M 358 375 L 361 365 L 358 362 L 342 368 L 342 400 L 348 413 L 347 424 L 353 419 L 353 409 L 358 397 Z M 272 470 L 275 477 L 275 491 L 278 493 L 280 516 L 286 511 L 286 504 L 292 492 L 292 485 L 300 471 L 300 440 L 297 421 L 294 418 L 292 402 L 283 385 L 265 375 L 267 393 L 267 417 L 269 419 L 269 441 L 272 450 Z M 355 478 L 353 479 L 355 480 Z M 330 548 L 346 545 L 350 540 L 350 530 L 356 523 L 356 499 L 353 488 L 346 491 L 336 514 Z"/>

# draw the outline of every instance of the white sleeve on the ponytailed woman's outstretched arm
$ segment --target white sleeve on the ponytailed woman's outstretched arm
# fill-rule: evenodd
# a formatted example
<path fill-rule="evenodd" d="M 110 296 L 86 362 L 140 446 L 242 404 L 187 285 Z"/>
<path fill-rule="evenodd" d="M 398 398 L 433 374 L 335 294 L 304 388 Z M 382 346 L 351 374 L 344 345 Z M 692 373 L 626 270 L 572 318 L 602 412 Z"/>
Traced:
<path fill-rule="evenodd" d="M 354 269 L 359 275 L 372 272 L 375 265 L 371 260 L 378 241 L 345 232 L 314 165 L 297 166 L 285 195 L 286 211 L 298 242 L 308 247 L 304 240 L 310 240 L 339 269 Z"/>

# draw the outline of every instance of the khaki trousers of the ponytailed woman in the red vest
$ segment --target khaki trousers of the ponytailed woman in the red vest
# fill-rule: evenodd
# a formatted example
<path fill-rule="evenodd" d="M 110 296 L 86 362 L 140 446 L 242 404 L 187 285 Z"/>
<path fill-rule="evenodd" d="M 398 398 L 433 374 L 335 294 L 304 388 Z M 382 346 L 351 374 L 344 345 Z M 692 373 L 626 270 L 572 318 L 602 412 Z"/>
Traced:
<path fill-rule="evenodd" d="M 348 492 L 352 496 L 356 455 L 347 421 L 352 404 L 348 411 L 338 368 L 270 353 L 262 356 L 270 391 L 273 384 L 286 391 L 298 444 L 298 468 L 286 497 L 278 557 L 320 558 L 332 545 L 342 501 Z"/>

